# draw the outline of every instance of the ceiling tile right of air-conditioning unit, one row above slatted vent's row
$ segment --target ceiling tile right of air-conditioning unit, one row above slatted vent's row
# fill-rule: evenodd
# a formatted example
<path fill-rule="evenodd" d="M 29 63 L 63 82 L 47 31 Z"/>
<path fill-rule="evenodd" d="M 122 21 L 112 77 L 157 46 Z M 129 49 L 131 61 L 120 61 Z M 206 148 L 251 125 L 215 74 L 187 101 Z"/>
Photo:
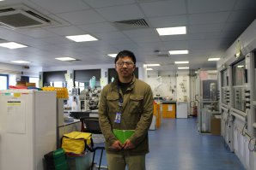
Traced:
<path fill-rule="evenodd" d="M 74 25 L 83 25 L 105 21 L 105 19 L 101 15 L 97 14 L 94 10 L 81 10 L 58 14 L 58 16 Z"/>

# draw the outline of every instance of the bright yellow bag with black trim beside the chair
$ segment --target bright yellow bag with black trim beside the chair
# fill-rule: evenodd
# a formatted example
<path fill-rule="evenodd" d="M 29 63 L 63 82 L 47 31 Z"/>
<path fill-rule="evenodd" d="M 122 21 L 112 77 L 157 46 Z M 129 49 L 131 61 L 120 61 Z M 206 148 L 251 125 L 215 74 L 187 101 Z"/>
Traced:
<path fill-rule="evenodd" d="M 65 153 L 82 154 L 85 149 L 92 150 L 92 133 L 70 132 L 63 135 L 62 148 Z"/>

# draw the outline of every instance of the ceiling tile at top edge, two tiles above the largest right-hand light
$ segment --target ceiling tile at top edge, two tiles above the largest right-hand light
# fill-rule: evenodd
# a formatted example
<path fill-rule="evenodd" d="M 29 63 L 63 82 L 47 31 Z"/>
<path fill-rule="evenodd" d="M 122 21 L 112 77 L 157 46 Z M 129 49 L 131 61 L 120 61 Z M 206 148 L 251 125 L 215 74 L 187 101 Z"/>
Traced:
<path fill-rule="evenodd" d="M 147 17 L 186 14 L 186 4 L 184 0 L 141 3 L 140 6 Z"/>

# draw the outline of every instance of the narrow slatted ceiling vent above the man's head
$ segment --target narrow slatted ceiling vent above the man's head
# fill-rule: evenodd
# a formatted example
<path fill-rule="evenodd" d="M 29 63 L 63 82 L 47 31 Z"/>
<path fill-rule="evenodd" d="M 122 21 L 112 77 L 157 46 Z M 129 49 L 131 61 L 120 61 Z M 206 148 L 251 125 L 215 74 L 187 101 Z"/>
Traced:
<path fill-rule="evenodd" d="M 129 21 L 115 21 L 113 22 L 113 24 L 120 31 L 149 27 L 149 24 L 144 19 L 129 20 Z"/>

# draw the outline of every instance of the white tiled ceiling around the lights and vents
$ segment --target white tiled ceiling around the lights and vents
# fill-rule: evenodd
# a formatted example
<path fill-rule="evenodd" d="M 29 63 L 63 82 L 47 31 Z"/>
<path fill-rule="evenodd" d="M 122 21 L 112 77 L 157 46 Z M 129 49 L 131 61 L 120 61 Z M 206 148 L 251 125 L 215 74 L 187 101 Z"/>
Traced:
<path fill-rule="evenodd" d="M 0 47 L 0 62 L 31 62 L 55 67 L 113 63 L 107 54 L 131 50 L 137 62 L 160 63 L 156 70 L 176 70 L 174 62 L 189 61 L 190 69 L 215 68 L 209 57 L 222 57 L 255 19 L 255 0 L 5 0 L 0 8 L 24 4 L 51 22 L 48 26 L 9 29 L 0 26 L 0 43 L 13 41 L 27 48 Z M 144 19 L 148 26 L 115 24 Z M 159 36 L 155 28 L 186 26 L 186 35 Z M 90 34 L 98 41 L 76 43 L 65 36 Z M 168 50 L 189 50 L 170 56 Z M 155 52 L 157 51 L 157 52 Z M 71 56 L 79 61 L 61 62 Z"/>

